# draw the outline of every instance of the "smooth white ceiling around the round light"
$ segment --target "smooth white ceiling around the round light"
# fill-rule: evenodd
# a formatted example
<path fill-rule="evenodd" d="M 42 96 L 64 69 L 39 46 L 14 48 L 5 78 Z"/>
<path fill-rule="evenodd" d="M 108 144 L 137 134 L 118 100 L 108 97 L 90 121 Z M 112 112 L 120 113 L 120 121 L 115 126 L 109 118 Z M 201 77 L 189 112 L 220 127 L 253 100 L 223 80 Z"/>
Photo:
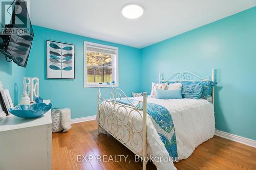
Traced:
<path fill-rule="evenodd" d="M 138 19 L 121 8 L 141 4 Z M 145 47 L 256 6 L 256 0 L 31 0 L 33 25 Z"/>

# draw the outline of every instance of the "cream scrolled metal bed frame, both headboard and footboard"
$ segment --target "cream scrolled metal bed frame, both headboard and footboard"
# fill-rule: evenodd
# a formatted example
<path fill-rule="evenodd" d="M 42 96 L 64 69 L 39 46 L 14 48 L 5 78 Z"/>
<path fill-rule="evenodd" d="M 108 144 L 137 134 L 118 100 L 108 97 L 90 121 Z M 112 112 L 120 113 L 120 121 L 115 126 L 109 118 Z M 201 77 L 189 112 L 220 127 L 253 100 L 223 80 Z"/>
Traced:
<path fill-rule="evenodd" d="M 163 74 L 159 74 L 159 83 L 174 81 L 215 81 L 215 69 L 212 68 L 211 75 L 208 78 L 202 78 L 189 71 L 178 72 L 167 79 L 164 78 Z M 129 101 L 130 105 L 124 105 L 121 102 L 121 98 Z M 143 170 L 146 170 L 147 164 L 147 159 L 145 159 L 147 157 L 146 98 L 147 93 L 143 92 L 143 101 L 139 101 L 138 106 L 135 106 L 119 88 L 109 88 L 103 95 L 101 95 L 100 88 L 98 88 L 98 135 L 100 134 L 101 127 L 130 149 L 135 155 L 140 156 L 143 162 Z M 215 87 L 212 90 L 212 105 L 214 105 L 214 100 Z M 130 111 L 127 108 L 130 108 Z M 134 126 L 138 123 L 143 124 L 140 129 L 136 129 Z M 125 131 L 128 132 L 127 134 L 129 136 L 124 140 L 123 135 Z M 142 142 L 142 148 L 138 149 L 136 147 L 139 146 L 140 142 Z"/>

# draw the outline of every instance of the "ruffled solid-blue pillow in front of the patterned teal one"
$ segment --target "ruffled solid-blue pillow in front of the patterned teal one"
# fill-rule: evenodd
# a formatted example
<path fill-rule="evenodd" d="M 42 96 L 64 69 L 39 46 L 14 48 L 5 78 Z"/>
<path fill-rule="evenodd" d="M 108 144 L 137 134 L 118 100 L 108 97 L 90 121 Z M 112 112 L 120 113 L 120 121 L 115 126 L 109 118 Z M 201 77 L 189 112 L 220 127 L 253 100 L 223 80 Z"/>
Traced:
<path fill-rule="evenodd" d="M 182 97 L 187 99 L 200 99 L 204 86 L 202 83 L 182 84 Z"/>

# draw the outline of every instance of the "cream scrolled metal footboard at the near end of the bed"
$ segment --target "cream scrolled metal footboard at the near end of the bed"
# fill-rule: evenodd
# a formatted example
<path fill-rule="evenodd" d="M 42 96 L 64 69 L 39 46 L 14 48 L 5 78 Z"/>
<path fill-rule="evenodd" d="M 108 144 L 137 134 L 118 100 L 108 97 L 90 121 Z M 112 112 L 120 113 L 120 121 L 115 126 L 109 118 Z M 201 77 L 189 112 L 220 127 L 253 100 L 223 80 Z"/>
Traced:
<path fill-rule="evenodd" d="M 143 92 L 143 101 L 135 105 L 119 88 L 110 88 L 103 95 L 98 88 L 98 134 L 99 128 L 103 128 L 126 148 L 140 156 L 143 170 L 146 170 L 147 164 L 146 96 L 147 93 Z M 126 99 L 128 105 L 123 104 L 122 99 Z"/>

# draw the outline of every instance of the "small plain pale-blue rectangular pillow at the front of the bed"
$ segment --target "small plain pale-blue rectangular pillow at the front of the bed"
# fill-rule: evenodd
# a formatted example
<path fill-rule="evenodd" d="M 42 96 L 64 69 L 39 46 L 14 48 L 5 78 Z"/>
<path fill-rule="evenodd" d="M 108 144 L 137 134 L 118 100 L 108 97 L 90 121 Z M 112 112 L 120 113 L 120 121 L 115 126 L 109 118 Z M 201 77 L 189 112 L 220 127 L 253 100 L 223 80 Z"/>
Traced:
<path fill-rule="evenodd" d="M 181 89 L 176 89 L 176 90 L 156 89 L 156 99 L 182 99 Z"/>

